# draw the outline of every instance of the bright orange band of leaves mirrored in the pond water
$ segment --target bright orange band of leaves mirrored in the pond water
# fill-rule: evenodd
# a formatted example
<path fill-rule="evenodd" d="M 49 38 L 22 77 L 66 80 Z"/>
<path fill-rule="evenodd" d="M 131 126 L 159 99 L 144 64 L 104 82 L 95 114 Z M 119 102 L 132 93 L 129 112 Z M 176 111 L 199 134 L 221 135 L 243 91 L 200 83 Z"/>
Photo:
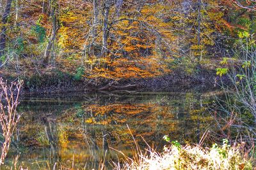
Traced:
<path fill-rule="evenodd" d="M 157 117 L 173 118 L 170 114 L 170 106 L 161 106 L 157 103 L 109 103 L 109 104 L 91 104 L 84 106 L 84 110 L 92 114 L 85 122 L 87 124 L 108 125 L 115 121 L 116 124 L 127 124 L 132 118 L 137 120 L 147 117 L 143 122 L 134 122 L 134 124 L 154 124 Z"/>

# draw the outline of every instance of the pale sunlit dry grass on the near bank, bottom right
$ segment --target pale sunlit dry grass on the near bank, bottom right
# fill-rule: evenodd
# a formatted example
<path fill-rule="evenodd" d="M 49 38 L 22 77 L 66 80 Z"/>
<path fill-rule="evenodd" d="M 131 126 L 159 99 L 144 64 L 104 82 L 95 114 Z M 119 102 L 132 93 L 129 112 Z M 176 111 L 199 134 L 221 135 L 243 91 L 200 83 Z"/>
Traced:
<path fill-rule="evenodd" d="M 149 154 L 148 154 L 149 153 Z M 125 160 L 115 169 L 253 169 L 250 160 L 245 159 L 241 146 L 202 148 L 200 146 L 171 146 L 163 153 L 148 150 L 138 159 Z"/>

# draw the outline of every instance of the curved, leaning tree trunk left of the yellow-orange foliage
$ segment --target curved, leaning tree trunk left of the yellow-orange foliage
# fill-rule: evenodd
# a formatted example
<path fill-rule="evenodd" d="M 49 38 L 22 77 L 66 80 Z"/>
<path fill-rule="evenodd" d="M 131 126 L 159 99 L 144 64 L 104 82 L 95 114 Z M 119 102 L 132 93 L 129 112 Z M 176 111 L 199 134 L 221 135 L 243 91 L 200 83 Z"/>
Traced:
<path fill-rule="evenodd" d="M 52 46 L 56 39 L 56 34 L 58 31 L 58 17 L 57 17 L 58 4 L 56 3 L 56 0 L 49 0 L 49 3 L 50 3 L 50 10 L 51 10 L 50 18 L 52 20 L 52 32 L 44 52 L 44 60 L 43 60 L 44 66 L 47 66 L 49 64 L 49 57 L 50 57 Z"/>

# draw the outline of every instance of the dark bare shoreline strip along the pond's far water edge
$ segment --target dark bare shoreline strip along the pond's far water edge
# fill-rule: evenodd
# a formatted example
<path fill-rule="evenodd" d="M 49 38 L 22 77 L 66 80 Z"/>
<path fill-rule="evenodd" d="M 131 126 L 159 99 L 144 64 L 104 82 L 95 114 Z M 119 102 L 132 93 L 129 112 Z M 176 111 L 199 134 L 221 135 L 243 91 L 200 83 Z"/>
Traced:
<path fill-rule="evenodd" d="M 51 76 L 51 75 L 48 75 Z M 32 80 L 31 78 L 30 80 Z M 56 82 L 57 80 L 57 82 Z M 97 83 L 95 80 L 74 81 L 72 78 L 56 79 L 54 82 L 41 80 L 40 84 L 29 87 L 28 82 L 24 80 L 24 88 L 22 95 L 56 95 L 72 92 L 189 92 L 220 89 L 220 77 L 213 72 L 205 72 L 203 74 L 186 75 L 186 74 L 166 74 L 164 76 L 154 78 L 141 78 L 134 80 L 104 80 L 103 83 Z M 221 80 L 228 83 L 228 78 L 223 76 Z"/>

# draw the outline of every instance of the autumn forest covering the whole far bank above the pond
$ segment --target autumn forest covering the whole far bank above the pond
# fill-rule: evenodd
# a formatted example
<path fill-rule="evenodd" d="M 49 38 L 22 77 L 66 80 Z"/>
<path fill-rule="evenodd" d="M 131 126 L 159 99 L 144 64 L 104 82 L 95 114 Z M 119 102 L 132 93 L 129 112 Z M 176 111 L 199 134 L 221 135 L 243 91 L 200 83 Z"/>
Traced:
<path fill-rule="evenodd" d="M 36 93 L 212 84 L 253 34 L 252 3 L 3 1 L 1 76 Z"/>

